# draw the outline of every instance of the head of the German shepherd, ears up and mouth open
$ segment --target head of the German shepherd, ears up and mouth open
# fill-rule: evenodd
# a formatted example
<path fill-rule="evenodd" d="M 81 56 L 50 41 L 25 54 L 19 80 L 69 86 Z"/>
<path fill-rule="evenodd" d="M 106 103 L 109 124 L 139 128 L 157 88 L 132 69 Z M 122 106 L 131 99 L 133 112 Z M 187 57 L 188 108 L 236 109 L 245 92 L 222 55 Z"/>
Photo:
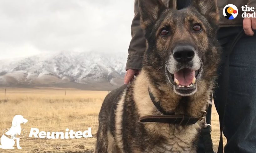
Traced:
<path fill-rule="evenodd" d="M 182 10 L 161 0 L 139 0 L 147 50 L 143 68 L 156 86 L 167 84 L 181 96 L 213 86 L 219 52 L 216 0 L 192 0 Z"/>

